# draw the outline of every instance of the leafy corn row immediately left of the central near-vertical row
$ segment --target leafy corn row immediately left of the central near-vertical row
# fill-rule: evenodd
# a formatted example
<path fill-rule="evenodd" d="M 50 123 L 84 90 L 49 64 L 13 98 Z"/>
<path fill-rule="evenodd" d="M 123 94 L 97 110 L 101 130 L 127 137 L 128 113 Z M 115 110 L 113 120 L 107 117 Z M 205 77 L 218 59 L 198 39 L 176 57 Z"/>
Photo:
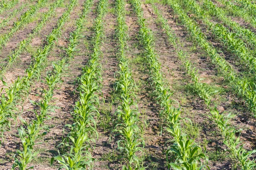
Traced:
<path fill-rule="evenodd" d="M 94 20 L 93 52 L 88 64 L 83 68 L 84 74 L 79 78 L 79 101 L 76 102 L 73 116 L 73 125 L 66 125 L 71 128 L 65 139 L 66 146 L 70 148 L 69 153 L 55 156 L 51 164 L 57 160 L 60 168 L 66 170 L 92 169 L 95 159 L 91 156 L 91 143 L 95 143 L 98 133 L 96 130 L 95 116 L 99 115 L 97 106 L 101 93 L 102 57 L 101 46 L 104 39 L 103 18 L 107 13 L 108 0 L 100 0 L 97 8 L 98 16 Z M 64 144 L 64 143 L 62 143 Z"/>

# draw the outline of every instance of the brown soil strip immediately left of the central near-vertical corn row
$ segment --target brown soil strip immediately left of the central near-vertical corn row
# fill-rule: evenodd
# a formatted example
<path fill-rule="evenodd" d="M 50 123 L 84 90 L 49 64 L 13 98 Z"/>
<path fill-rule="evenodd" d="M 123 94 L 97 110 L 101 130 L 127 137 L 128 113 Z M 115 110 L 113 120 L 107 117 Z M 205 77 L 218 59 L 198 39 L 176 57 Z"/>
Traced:
<path fill-rule="evenodd" d="M 113 10 L 113 0 L 109 1 L 108 8 Z M 120 165 L 116 165 L 116 162 L 109 162 L 108 156 L 111 156 L 112 151 L 115 150 L 115 137 L 111 130 L 114 129 L 112 120 L 108 119 L 108 116 L 111 119 L 114 119 L 114 112 L 116 106 L 111 104 L 111 96 L 113 94 L 113 84 L 116 82 L 114 77 L 115 72 L 117 71 L 117 60 L 115 54 L 115 15 L 108 13 L 105 16 L 105 41 L 102 47 L 102 94 L 103 99 L 100 101 L 100 118 L 98 120 L 98 132 L 99 139 L 97 139 L 95 148 L 93 150 L 92 156 L 98 159 L 96 161 L 94 169 L 95 170 L 107 170 L 107 169 L 116 169 L 116 166 L 120 168 Z M 101 97 L 102 98 L 102 97 Z M 112 106 L 112 107 L 111 107 Z M 104 159 L 105 158 L 105 159 Z"/>

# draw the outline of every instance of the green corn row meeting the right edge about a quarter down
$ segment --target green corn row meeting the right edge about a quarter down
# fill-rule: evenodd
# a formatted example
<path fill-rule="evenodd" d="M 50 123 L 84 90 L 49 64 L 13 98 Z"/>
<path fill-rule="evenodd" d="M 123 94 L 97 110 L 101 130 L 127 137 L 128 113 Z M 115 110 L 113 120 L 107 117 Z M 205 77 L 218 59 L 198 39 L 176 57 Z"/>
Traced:
<path fill-rule="evenodd" d="M 246 41 L 247 44 L 252 47 L 256 46 L 256 34 L 253 31 L 240 26 L 239 23 L 232 21 L 231 17 L 227 17 L 225 11 L 218 6 L 215 6 L 211 0 L 204 0 L 203 6 L 209 12 L 209 14 L 217 17 L 218 20 L 235 31 L 236 35 Z"/>

